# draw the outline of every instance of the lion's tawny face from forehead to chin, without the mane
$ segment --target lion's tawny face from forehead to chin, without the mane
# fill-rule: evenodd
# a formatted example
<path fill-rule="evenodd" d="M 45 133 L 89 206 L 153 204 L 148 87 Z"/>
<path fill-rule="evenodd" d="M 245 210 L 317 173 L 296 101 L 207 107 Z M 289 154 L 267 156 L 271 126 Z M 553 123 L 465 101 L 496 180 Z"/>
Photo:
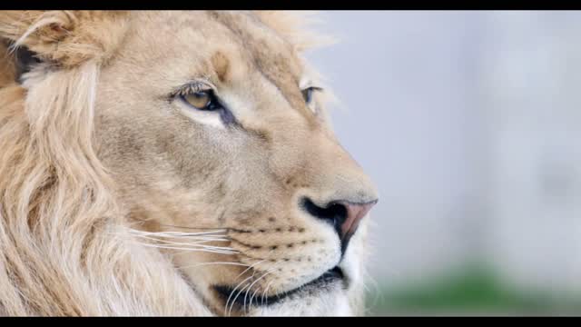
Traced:
<path fill-rule="evenodd" d="M 167 232 L 153 244 L 216 313 L 349 313 L 378 195 L 300 54 L 245 13 L 131 22 L 95 107 L 130 223 Z"/>

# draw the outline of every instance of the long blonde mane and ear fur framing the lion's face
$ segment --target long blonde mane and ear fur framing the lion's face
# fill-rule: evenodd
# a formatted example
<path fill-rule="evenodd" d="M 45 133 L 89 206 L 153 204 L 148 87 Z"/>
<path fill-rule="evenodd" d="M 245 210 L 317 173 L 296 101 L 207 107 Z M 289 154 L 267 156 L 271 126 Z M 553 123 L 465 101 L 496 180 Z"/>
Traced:
<path fill-rule="evenodd" d="M 281 15 L 263 19 L 299 37 Z M 96 155 L 96 82 L 123 24 L 119 13 L 0 15 L 3 39 L 59 64 L 17 84 L 14 49 L 0 45 L 0 315 L 212 314 L 168 258 L 132 242 Z"/>

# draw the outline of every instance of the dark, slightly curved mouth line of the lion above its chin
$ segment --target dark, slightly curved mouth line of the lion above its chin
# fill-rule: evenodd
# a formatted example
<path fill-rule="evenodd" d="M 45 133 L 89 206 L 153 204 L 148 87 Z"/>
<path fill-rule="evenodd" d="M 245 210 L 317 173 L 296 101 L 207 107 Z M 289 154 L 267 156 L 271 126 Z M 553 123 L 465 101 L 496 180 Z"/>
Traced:
<path fill-rule="evenodd" d="M 234 290 L 231 288 L 231 286 L 216 285 L 214 286 L 214 289 L 222 297 L 223 301 L 230 301 L 233 302 L 235 305 L 239 305 L 241 307 L 246 307 L 249 305 L 269 306 L 281 302 L 282 300 L 287 299 L 299 292 L 312 292 L 315 290 L 323 289 L 334 282 L 343 282 L 343 286 L 347 287 L 345 274 L 343 273 L 342 269 L 339 266 L 335 266 L 334 268 L 328 270 L 327 272 L 323 272 L 319 277 L 315 278 L 314 280 L 304 283 L 290 291 L 281 292 L 264 298 L 260 296 L 255 297 L 252 298 L 251 301 L 249 301 L 248 297 L 245 296 L 238 296 L 235 299 L 233 299 L 234 296 L 231 296 L 231 294 L 232 292 L 234 292 Z M 228 300 L 229 298 L 230 300 Z"/>

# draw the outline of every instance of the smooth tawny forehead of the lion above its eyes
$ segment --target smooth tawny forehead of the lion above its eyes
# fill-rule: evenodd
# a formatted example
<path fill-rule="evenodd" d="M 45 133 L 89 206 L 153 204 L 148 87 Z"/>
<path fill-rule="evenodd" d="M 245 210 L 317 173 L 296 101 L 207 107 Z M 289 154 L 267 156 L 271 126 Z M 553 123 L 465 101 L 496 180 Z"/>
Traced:
<path fill-rule="evenodd" d="M 300 54 L 256 15 L 136 13 L 132 25 L 135 37 L 132 45 L 121 50 L 121 56 L 138 68 L 143 68 L 142 61 L 149 61 L 147 67 L 165 71 L 162 74 L 167 75 L 168 83 L 178 83 L 177 72 L 183 74 L 183 80 L 211 76 L 225 87 L 249 84 L 254 76 L 273 84 L 291 106 L 304 106 L 299 88 L 304 70 Z"/>

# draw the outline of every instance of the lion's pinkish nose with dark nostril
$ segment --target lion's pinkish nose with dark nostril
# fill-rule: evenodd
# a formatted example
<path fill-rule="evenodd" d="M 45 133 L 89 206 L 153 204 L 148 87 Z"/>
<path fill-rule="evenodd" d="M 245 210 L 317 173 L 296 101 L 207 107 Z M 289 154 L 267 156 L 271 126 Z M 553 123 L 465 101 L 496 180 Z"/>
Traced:
<path fill-rule="evenodd" d="M 313 203 L 310 198 L 304 198 L 302 205 L 310 215 L 331 223 L 341 240 L 341 253 L 345 253 L 351 236 L 357 230 L 359 223 L 371 207 L 378 203 L 373 200 L 367 203 L 352 203 L 345 200 L 335 200 L 321 207 Z"/>

